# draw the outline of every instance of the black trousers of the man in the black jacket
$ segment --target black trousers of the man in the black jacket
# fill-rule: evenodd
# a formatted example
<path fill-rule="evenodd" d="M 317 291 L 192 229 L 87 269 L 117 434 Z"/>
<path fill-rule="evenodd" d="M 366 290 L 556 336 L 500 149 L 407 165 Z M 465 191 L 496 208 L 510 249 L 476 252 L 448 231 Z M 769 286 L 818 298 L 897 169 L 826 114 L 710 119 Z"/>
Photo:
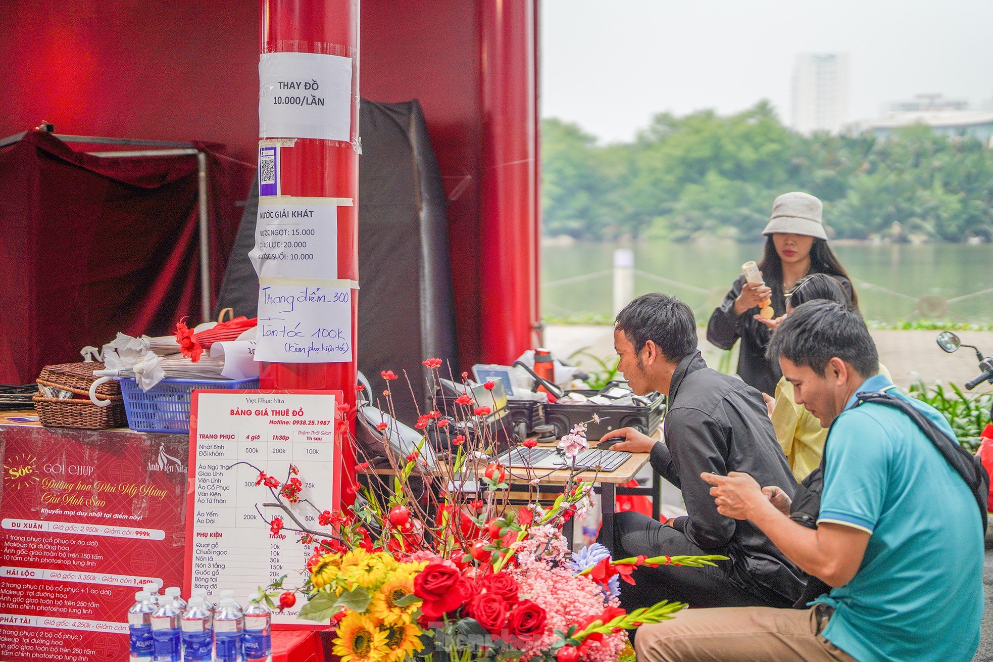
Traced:
<path fill-rule="evenodd" d="M 686 536 L 645 517 L 641 513 L 618 513 L 614 516 L 614 540 L 600 543 L 609 548 L 614 559 L 644 555 L 707 555 L 687 540 Z M 716 566 L 685 568 L 681 566 L 641 566 L 632 574 L 635 585 L 621 582 L 621 606 L 631 611 L 650 606 L 661 600 L 686 602 L 694 607 L 773 606 L 788 607 L 775 593 L 753 594 L 730 578 L 730 561 L 715 562 Z"/>

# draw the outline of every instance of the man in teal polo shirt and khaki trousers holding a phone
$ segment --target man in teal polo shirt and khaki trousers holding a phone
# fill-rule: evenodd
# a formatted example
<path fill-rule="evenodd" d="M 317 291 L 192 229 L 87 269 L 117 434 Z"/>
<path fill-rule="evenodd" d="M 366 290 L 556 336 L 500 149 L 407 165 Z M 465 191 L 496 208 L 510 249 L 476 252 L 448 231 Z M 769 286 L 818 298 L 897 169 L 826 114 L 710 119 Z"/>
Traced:
<path fill-rule="evenodd" d="M 809 575 L 832 586 L 807 609 L 693 609 L 638 628 L 639 662 L 660 660 L 966 661 L 979 644 L 983 532 L 965 481 L 906 414 L 856 394 L 888 391 L 954 438 L 941 414 L 879 372 L 854 309 L 796 308 L 770 347 L 794 398 L 831 426 L 817 529 L 788 517 L 775 486 L 702 474 L 718 511 L 751 520 Z"/>

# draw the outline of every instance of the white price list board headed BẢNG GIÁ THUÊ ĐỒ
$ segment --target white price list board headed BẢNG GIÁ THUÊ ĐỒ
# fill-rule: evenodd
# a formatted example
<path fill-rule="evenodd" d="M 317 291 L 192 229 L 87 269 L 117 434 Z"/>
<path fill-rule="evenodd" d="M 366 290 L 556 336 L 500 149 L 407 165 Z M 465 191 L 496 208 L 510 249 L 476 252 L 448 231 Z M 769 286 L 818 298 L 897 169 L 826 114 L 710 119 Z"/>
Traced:
<path fill-rule="evenodd" d="M 194 392 L 188 591 L 205 588 L 216 596 L 230 588 L 243 603 L 258 586 L 284 575 L 287 586 L 303 582 L 313 548 L 299 542 L 303 533 L 295 529 L 321 531 L 320 512 L 341 508 L 342 447 L 335 431 L 341 402 L 341 392 L 330 391 Z M 266 477 L 279 487 L 267 487 Z M 290 478 L 303 486 L 296 504 L 277 498 Z M 275 517 L 283 522 L 276 534 L 268 524 Z M 273 622 L 310 627 L 297 620 L 302 603 L 274 613 Z"/>

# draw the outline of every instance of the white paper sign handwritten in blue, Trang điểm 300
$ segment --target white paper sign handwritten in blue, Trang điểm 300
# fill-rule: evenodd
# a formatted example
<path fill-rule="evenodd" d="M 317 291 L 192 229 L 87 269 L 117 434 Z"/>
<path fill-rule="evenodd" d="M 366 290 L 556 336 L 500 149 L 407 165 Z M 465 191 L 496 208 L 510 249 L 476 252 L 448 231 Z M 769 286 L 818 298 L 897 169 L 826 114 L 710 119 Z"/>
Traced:
<path fill-rule="evenodd" d="M 269 284 L 258 290 L 256 361 L 352 361 L 349 287 Z"/>

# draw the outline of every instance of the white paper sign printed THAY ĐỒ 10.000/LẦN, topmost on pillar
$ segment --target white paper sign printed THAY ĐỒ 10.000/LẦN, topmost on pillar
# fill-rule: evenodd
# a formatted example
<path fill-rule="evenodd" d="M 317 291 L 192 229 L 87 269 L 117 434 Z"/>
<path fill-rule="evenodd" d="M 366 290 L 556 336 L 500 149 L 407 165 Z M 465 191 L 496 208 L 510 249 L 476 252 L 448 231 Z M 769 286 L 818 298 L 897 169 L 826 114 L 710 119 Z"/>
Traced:
<path fill-rule="evenodd" d="M 259 138 L 351 140 L 351 58 L 265 53 L 258 79 Z"/>

